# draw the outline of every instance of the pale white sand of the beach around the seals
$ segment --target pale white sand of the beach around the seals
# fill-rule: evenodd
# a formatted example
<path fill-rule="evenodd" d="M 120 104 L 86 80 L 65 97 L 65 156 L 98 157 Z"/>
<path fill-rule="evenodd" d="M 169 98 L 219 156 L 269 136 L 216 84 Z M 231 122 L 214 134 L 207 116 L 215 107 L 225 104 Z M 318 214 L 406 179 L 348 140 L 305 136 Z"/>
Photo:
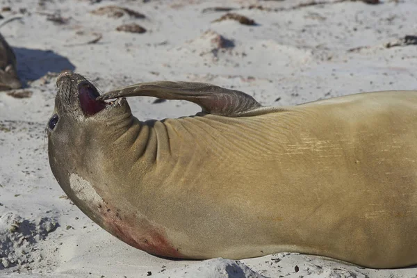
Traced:
<path fill-rule="evenodd" d="M 368 270 L 300 254 L 229 261 L 170 261 L 136 250 L 89 220 L 62 197 L 49 170 L 44 126 L 54 107 L 56 73 L 76 70 L 102 91 L 142 81 L 204 81 L 236 88 L 265 105 L 300 104 L 372 90 L 416 90 L 417 46 L 386 48 L 417 35 L 416 0 L 330 3 L 307 0 L 142 1 L 1 0 L 1 28 L 18 59 L 30 98 L 0 92 L 0 276 L 2 277 L 417 277 L 417 268 Z M 240 9 L 250 4 L 287 10 Z M 40 5 L 40 4 L 43 4 Z M 90 15 L 107 5 L 146 15 Z M 259 25 L 227 20 L 228 6 Z M 67 18 L 47 20 L 48 13 Z M 115 31 L 136 22 L 146 33 Z M 83 34 L 77 34 L 82 31 Z M 95 34 L 96 33 L 96 34 Z M 85 44 L 97 33 L 97 44 Z M 225 48 L 219 47 L 219 37 Z M 366 47 L 349 51 L 357 47 Z M 48 74 L 48 72 L 51 72 Z M 279 101 L 275 101 L 279 99 Z M 142 120 L 190 115 L 185 101 L 129 99 Z M 352 244 L 355 244 L 354 242 Z M 298 270 L 296 272 L 296 270 Z M 149 272 L 149 273 L 148 273 Z"/>

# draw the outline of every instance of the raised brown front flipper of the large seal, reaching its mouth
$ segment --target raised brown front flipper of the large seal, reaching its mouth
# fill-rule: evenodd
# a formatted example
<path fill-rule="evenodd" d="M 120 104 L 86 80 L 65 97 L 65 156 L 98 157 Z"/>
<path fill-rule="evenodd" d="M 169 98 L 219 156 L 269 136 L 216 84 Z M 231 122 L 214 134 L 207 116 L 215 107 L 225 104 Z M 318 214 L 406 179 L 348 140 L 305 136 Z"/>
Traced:
<path fill-rule="evenodd" d="M 198 104 L 204 113 L 228 117 L 238 117 L 262 107 L 258 101 L 244 92 L 197 82 L 138 83 L 107 92 L 97 97 L 97 100 L 135 96 L 191 101 Z"/>

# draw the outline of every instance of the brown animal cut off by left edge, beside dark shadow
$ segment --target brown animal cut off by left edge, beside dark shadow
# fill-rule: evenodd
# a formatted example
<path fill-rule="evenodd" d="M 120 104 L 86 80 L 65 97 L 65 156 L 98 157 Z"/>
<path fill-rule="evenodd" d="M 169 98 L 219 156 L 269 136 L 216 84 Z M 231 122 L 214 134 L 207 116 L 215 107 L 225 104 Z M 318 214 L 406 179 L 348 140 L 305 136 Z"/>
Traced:
<path fill-rule="evenodd" d="M 22 88 L 22 83 L 17 76 L 15 53 L 0 34 L 0 90 L 19 88 Z"/>

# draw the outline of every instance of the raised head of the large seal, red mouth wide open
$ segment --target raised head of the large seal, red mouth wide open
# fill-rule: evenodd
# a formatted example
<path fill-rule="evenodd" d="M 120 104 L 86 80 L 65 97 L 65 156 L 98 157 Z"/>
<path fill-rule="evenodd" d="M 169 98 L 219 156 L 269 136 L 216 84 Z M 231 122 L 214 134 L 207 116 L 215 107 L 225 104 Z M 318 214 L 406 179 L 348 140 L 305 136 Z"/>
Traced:
<path fill-rule="evenodd" d="M 129 128 L 132 115 L 126 99 L 96 100 L 97 88 L 80 74 L 63 72 L 56 85 L 54 113 L 47 124 L 49 164 L 71 197 L 71 174 L 99 172 L 100 154 Z"/>

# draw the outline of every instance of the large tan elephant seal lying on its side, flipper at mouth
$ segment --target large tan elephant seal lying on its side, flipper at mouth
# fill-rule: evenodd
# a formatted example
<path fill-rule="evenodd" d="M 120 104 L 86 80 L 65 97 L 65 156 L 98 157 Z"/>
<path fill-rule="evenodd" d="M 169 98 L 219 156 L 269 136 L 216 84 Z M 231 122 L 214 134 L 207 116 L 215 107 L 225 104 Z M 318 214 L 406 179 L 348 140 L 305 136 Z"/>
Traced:
<path fill-rule="evenodd" d="M 417 263 L 417 91 L 277 108 L 204 83 L 99 96 L 67 72 L 57 87 L 51 170 L 83 213 L 133 247 L 183 259 Z M 202 112 L 142 122 L 124 97 L 145 95 Z"/>

